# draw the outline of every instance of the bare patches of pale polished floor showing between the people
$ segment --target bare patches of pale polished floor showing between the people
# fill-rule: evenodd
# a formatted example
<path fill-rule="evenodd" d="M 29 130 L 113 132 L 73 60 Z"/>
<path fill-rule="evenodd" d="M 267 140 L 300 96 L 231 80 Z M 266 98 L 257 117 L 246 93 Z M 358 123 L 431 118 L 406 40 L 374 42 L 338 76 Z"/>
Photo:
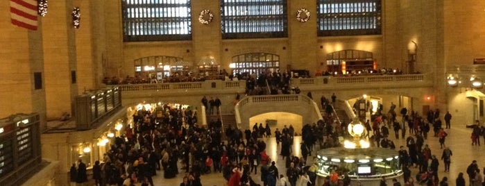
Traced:
<path fill-rule="evenodd" d="M 480 139 L 482 142 L 482 146 L 472 146 L 471 145 L 471 140 L 470 140 L 470 134 L 472 130 L 470 128 L 465 128 L 464 126 L 452 126 L 451 129 L 445 129 L 446 132 L 448 133 L 448 137 L 446 139 L 445 144 L 450 147 L 452 150 L 452 163 L 450 166 L 450 171 L 445 172 L 444 171 L 444 164 L 443 161 L 440 160 L 440 165 L 439 165 L 439 177 L 440 179 L 443 178 L 443 176 L 448 176 L 449 184 L 454 185 L 454 180 L 457 178 L 457 175 L 459 172 L 463 172 L 463 174 L 466 175 L 466 167 L 468 167 L 468 164 L 470 164 L 473 160 L 477 160 L 479 168 L 483 170 L 483 167 L 485 167 L 485 142 L 483 141 L 483 137 Z M 432 149 L 432 153 L 436 155 L 437 158 L 441 158 L 441 153 L 442 149 L 440 149 L 438 138 L 437 137 L 432 137 L 432 133 L 430 133 L 431 137 L 428 137 L 426 144 L 429 144 L 430 148 Z M 409 133 L 407 134 L 409 135 Z M 391 136 L 393 136 L 393 131 L 391 131 Z M 400 145 L 405 145 L 405 139 L 399 139 L 395 140 L 393 138 L 390 138 L 395 142 L 395 145 L 397 148 L 399 148 Z M 263 140 L 266 141 L 267 147 L 266 147 L 266 152 L 270 155 L 271 159 L 274 160 L 277 164 L 278 170 L 280 171 L 280 174 L 286 172 L 286 169 L 284 168 L 284 160 L 282 160 L 282 157 L 279 154 L 280 152 L 280 146 L 276 145 L 275 138 L 270 137 L 270 138 L 263 138 Z M 295 137 L 295 142 L 293 146 L 293 154 L 295 155 L 300 155 L 300 141 L 301 137 Z M 313 155 L 315 152 L 313 153 Z M 308 159 L 309 161 L 312 160 L 312 158 Z M 308 164 L 311 164 L 312 162 L 307 162 Z M 411 169 L 412 175 L 416 175 L 418 172 L 417 168 Z M 164 179 L 163 178 L 163 172 L 159 171 L 157 176 L 153 177 L 155 185 L 180 185 L 182 183 L 182 179 L 185 176 L 185 171 L 180 170 L 180 174 L 176 176 L 176 178 L 171 178 L 171 179 Z M 261 183 L 260 181 L 260 174 L 258 171 L 258 174 L 252 177 L 256 180 L 257 183 Z M 466 176 L 466 179 L 468 176 Z M 204 186 L 209 185 L 209 186 L 223 186 L 226 185 L 226 180 L 222 177 L 222 174 L 219 173 L 212 173 L 212 174 L 204 174 L 201 176 L 202 184 Z M 402 180 L 401 180 L 402 183 Z M 391 185 L 391 180 L 388 180 L 388 185 Z M 468 185 L 468 180 L 467 180 L 467 185 Z"/>

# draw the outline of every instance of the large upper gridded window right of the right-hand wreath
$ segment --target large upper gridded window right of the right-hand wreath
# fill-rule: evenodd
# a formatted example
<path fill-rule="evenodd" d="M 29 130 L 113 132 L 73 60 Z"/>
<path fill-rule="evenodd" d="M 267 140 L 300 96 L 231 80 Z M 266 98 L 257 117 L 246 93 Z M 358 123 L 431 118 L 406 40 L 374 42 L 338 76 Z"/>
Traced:
<path fill-rule="evenodd" d="M 380 35 L 381 0 L 317 0 L 318 36 Z"/>

